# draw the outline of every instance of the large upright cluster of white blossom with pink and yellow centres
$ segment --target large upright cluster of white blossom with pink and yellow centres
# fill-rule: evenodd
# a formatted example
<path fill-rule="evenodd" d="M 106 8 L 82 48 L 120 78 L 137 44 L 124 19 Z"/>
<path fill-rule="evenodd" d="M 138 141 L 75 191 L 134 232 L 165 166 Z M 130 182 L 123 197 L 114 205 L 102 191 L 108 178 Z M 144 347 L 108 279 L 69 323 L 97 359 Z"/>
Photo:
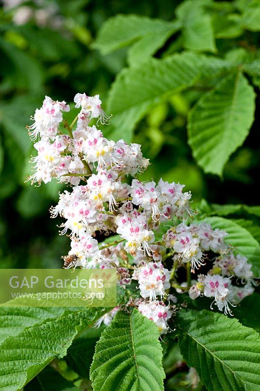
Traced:
<path fill-rule="evenodd" d="M 230 305 L 253 292 L 247 259 L 233 254 L 224 242 L 225 231 L 205 222 L 187 223 L 194 213 L 184 185 L 135 178 L 149 160 L 142 156 L 140 145 L 103 136 L 97 125 L 109 117 L 99 95 L 78 93 L 74 102 L 80 112 L 71 126 L 62 116 L 69 106 L 46 96 L 28 127 L 38 152 L 29 179 L 40 184 L 56 178 L 72 187 L 50 210 L 52 217 L 64 218 L 60 234 L 71 239 L 64 267 L 116 269 L 122 288 L 137 280 L 138 299 L 130 303 L 161 333 L 168 330 L 167 321 L 175 311 L 174 289 L 189 292 L 192 299 L 212 297 L 220 311 L 231 313 Z M 93 119 L 96 126 L 90 124 Z M 161 230 L 169 226 L 166 233 Z M 99 243 L 99 234 L 111 240 Z M 187 271 L 184 282 L 178 280 L 181 267 Z M 208 272 L 192 285 L 188 275 L 201 267 Z M 118 309 L 101 320 L 109 324 Z"/>

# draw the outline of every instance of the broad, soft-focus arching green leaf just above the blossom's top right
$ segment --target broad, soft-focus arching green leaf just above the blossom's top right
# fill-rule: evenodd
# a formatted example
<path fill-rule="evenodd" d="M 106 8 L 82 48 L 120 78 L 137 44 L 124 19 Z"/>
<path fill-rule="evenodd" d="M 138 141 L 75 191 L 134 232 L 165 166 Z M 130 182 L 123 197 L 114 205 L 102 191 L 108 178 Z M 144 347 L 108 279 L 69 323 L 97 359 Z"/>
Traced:
<path fill-rule="evenodd" d="M 149 109 L 192 86 L 200 77 L 212 77 L 230 66 L 224 60 L 184 52 L 123 69 L 107 101 L 107 112 L 113 114 L 109 135 L 115 141 L 122 136 L 125 142 L 131 141 L 136 123 Z"/>

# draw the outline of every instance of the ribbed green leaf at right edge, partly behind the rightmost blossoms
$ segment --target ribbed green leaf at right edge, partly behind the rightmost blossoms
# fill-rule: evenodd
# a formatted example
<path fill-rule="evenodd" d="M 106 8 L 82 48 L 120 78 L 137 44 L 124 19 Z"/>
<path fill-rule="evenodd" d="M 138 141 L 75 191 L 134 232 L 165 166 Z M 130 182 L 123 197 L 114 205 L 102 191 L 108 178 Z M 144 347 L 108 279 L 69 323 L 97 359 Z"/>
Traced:
<path fill-rule="evenodd" d="M 214 229 L 225 230 L 228 233 L 225 242 L 234 246 L 235 252 L 247 257 L 252 263 L 255 277 L 260 277 L 260 244 L 247 229 L 241 227 L 235 220 L 223 217 L 206 217 L 203 221 L 211 224 Z"/>

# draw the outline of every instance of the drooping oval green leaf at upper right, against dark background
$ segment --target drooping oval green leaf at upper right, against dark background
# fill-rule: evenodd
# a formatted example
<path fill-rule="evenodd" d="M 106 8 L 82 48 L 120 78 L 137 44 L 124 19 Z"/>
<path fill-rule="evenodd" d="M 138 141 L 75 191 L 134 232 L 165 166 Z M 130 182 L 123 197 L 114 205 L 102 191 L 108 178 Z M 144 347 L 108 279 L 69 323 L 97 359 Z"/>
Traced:
<path fill-rule="evenodd" d="M 202 95 L 188 116 L 189 144 L 205 173 L 221 175 L 229 156 L 247 137 L 254 120 L 255 93 L 239 72 Z"/>

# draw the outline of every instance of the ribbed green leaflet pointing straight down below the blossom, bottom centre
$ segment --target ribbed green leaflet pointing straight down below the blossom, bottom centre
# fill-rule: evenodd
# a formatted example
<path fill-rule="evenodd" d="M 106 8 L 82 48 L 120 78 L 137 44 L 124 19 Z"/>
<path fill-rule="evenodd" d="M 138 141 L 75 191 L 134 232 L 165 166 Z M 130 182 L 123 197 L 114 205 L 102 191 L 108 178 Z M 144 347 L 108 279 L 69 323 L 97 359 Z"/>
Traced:
<path fill-rule="evenodd" d="M 134 309 L 118 312 L 96 345 L 90 377 L 94 391 L 162 391 L 158 327 Z"/>

